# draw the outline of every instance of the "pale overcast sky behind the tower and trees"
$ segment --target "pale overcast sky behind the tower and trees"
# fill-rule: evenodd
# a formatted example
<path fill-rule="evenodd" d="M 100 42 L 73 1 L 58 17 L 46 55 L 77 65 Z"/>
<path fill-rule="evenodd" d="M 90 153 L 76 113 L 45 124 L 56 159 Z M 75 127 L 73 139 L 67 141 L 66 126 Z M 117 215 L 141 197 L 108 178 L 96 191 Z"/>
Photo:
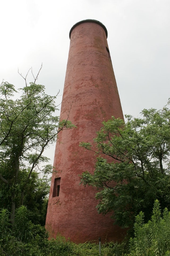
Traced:
<path fill-rule="evenodd" d="M 5 0 L 0 3 L 0 81 L 20 88 L 32 67 L 46 93 L 65 80 L 69 31 L 96 19 L 108 45 L 124 114 L 162 108 L 170 97 L 170 0 Z M 32 81 L 31 76 L 28 82 Z M 53 159 L 51 148 L 49 157 Z M 53 160 L 52 160 L 53 161 Z"/>

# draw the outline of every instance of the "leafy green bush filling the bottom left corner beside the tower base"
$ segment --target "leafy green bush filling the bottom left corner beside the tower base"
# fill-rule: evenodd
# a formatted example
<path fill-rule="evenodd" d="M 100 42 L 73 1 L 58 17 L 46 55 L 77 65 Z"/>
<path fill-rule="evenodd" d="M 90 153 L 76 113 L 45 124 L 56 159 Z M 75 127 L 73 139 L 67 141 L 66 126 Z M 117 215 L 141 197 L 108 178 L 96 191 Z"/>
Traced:
<path fill-rule="evenodd" d="M 32 224 L 28 215 L 26 206 L 20 206 L 16 209 L 14 224 L 11 225 L 7 209 L 0 211 L 0 255 L 44 255 L 40 248 L 45 247 L 48 234 L 41 225 Z"/>

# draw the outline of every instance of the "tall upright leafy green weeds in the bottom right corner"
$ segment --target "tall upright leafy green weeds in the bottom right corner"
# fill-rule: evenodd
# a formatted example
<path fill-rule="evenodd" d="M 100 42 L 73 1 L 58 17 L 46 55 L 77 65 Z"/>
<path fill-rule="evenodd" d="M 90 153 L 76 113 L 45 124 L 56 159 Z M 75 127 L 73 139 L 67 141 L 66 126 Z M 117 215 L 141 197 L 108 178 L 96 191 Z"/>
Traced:
<path fill-rule="evenodd" d="M 163 215 L 163 216 L 162 216 Z M 130 241 L 129 256 L 169 256 L 170 255 L 170 212 L 167 208 L 163 214 L 160 203 L 155 201 L 153 215 L 144 223 L 141 211 L 134 224 L 134 238 Z"/>

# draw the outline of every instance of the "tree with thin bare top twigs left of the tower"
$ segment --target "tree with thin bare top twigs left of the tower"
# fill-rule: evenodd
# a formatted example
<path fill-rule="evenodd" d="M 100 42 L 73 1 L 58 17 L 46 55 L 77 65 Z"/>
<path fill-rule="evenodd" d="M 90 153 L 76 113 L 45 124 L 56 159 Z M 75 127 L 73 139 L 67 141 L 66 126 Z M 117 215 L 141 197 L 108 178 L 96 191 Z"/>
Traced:
<path fill-rule="evenodd" d="M 26 82 L 16 100 L 14 85 L 0 85 L 0 197 L 8 209 L 11 205 L 12 223 L 15 207 L 24 204 L 32 176 L 43 168 L 48 174 L 49 168 L 42 167 L 48 161 L 42 155 L 44 149 L 56 141 L 60 131 L 75 127 L 68 119 L 54 115 L 57 95 L 47 95 L 36 80 L 29 85 Z"/>

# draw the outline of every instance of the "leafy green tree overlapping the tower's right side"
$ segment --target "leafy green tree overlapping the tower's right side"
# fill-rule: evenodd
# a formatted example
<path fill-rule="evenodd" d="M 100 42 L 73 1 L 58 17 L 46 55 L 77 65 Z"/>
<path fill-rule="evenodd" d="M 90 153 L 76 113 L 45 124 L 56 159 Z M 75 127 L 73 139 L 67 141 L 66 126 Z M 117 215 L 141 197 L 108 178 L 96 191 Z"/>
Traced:
<path fill-rule="evenodd" d="M 126 116 L 126 123 L 112 117 L 103 122 L 94 145 L 80 144 L 98 155 L 94 174 L 83 173 L 81 183 L 99 190 L 98 212 L 112 212 L 122 227 L 133 227 L 141 210 L 148 221 L 156 199 L 170 209 L 169 104 L 159 111 L 144 109 L 142 118 Z"/>

